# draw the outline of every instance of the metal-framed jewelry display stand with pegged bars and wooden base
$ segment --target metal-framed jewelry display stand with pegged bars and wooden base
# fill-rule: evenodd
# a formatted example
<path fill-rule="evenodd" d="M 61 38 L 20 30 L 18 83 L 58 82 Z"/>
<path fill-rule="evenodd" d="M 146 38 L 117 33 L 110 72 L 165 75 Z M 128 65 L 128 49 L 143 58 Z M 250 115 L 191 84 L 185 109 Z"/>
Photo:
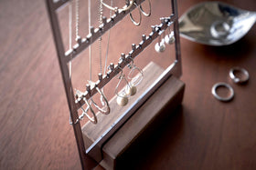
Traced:
<path fill-rule="evenodd" d="M 106 169 L 120 167 L 118 158 L 129 150 L 129 146 L 151 125 L 155 125 L 155 121 L 163 115 L 162 110 L 166 106 L 174 110 L 182 102 L 185 85 L 178 79 L 181 75 L 181 58 L 176 0 L 171 1 L 171 15 L 161 18 L 160 24 L 153 26 L 149 35 L 142 35 L 142 41 L 138 45 L 133 44 L 132 51 L 129 54 L 122 54 L 121 58 L 123 60 L 120 60 L 117 65 L 111 64 L 106 75 L 100 74 L 95 85 L 87 85 L 86 92 L 82 93 L 82 96 L 74 95 L 74 89 L 69 78 L 69 62 L 98 40 L 101 35 L 112 29 L 129 13 L 117 10 L 109 19 L 103 17 L 99 28 L 91 27 L 91 34 L 85 38 L 77 39 L 77 44 L 72 49 L 65 51 L 60 33 L 58 11 L 64 5 L 69 4 L 70 1 L 46 0 L 46 2 L 81 166 L 83 169 L 91 169 L 93 164 L 88 163 L 94 161 Z M 132 5 L 129 9 L 130 12 L 136 6 L 143 4 L 144 0 L 136 0 L 135 3 L 136 5 Z M 128 109 L 117 105 L 116 97 L 113 97 L 109 102 L 111 114 L 96 114 L 99 124 L 97 128 L 91 122 L 81 127 L 78 110 L 85 104 L 85 100 L 82 100 L 82 98 L 91 99 L 93 95 L 99 92 L 97 88 L 101 89 L 104 85 L 107 85 L 115 75 L 121 72 L 121 69 L 133 62 L 133 59 L 139 56 L 148 45 L 151 45 L 161 35 L 161 32 L 165 31 L 170 25 L 173 25 L 175 36 L 176 59 L 174 63 L 166 69 L 154 62 L 149 63 L 144 67 L 144 75 L 147 76 L 144 77 L 142 84 L 137 87 L 136 95 L 139 97 L 129 99 Z"/>

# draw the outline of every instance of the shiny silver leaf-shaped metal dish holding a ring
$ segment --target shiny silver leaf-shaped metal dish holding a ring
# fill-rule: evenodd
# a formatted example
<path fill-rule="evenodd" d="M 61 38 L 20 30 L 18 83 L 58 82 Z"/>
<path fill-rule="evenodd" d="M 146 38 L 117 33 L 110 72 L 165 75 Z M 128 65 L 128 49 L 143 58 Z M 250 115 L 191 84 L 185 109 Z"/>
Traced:
<path fill-rule="evenodd" d="M 204 45 L 230 45 L 246 35 L 256 21 L 250 12 L 221 2 L 205 2 L 190 8 L 179 19 L 182 37 Z"/>

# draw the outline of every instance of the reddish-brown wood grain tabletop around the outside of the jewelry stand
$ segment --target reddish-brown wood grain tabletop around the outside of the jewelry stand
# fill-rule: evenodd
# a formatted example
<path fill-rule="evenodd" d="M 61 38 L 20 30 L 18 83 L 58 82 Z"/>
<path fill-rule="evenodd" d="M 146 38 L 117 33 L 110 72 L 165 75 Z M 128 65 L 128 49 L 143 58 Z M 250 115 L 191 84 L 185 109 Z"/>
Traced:
<path fill-rule="evenodd" d="M 165 2 L 152 0 L 155 13 Z M 179 0 L 179 15 L 199 2 Z M 224 2 L 256 11 L 254 0 Z M 80 169 L 45 2 L 0 1 L 0 31 L 0 169 Z M 141 152 L 126 163 L 133 169 L 256 169 L 255 33 L 254 25 L 223 47 L 181 38 L 183 105 L 147 145 L 134 146 Z M 248 70 L 248 84 L 229 81 L 233 66 Z M 220 81 L 234 88 L 229 103 L 210 93 Z"/>

